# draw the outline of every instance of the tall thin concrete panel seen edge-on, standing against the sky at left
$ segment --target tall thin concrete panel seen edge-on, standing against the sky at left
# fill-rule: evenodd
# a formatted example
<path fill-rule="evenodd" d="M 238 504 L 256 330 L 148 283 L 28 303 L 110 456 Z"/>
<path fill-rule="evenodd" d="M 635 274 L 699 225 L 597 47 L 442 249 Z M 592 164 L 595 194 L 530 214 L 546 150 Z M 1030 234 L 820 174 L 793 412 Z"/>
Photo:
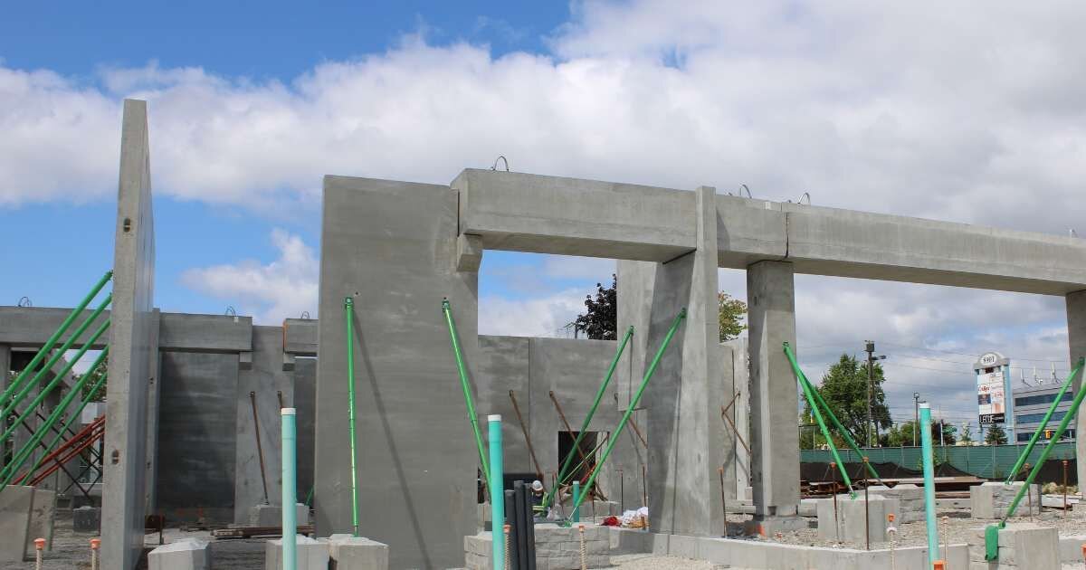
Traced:
<path fill-rule="evenodd" d="M 105 400 L 102 567 L 129 570 L 143 548 L 147 387 L 154 376 L 154 217 L 147 103 L 125 100 Z"/>

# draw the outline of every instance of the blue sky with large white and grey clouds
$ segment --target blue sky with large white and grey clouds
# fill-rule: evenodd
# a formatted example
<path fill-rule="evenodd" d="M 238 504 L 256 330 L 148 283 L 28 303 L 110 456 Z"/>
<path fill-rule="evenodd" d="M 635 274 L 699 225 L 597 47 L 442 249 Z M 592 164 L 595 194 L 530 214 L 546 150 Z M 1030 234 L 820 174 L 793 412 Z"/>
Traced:
<path fill-rule="evenodd" d="M 320 177 L 465 167 L 1068 236 L 1083 221 L 1086 4 L 24 2 L 0 18 L 0 303 L 105 269 L 121 101 L 146 99 L 156 304 L 316 317 Z M 557 335 L 606 259 L 487 252 L 479 330 Z M 745 297 L 742 271 L 720 287 Z M 800 364 L 867 339 L 892 415 L 975 422 L 971 365 L 1066 373 L 1062 299 L 798 276 Z M 975 433 L 974 427 L 974 433 Z"/>

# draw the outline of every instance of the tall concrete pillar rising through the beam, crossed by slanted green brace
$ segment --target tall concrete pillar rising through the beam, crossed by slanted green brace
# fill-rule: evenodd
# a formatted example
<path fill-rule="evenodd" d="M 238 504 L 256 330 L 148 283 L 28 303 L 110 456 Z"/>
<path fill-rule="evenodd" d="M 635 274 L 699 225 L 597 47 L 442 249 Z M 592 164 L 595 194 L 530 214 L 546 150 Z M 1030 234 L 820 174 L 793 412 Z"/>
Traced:
<path fill-rule="evenodd" d="M 620 328 L 637 342 L 619 392 L 635 391 L 675 315 L 686 308 L 671 345 L 641 401 L 646 408 L 648 509 L 653 529 L 672 534 L 719 535 L 718 468 L 731 456 L 720 406 L 724 389 L 717 320 L 716 191 L 696 191 L 697 249 L 667 263 L 619 263 Z M 623 292 L 624 291 L 624 292 Z M 730 391 L 730 387 L 729 387 Z M 621 397 L 623 406 L 628 398 Z M 725 448 L 727 447 L 727 448 Z"/>

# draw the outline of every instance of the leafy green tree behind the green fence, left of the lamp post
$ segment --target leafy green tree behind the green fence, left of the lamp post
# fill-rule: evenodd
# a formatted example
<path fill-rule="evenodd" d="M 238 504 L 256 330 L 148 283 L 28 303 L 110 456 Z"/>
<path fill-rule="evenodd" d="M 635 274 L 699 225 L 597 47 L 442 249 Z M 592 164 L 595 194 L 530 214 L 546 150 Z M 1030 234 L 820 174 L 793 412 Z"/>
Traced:
<path fill-rule="evenodd" d="M 889 428 L 889 407 L 886 406 L 886 394 L 882 389 L 885 381 L 882 366 L 874 365 L 872 377 L 871 421 L 876 428 Z M 858 444 L 863 445 L 868 441 L 869 430 L 867 363 L 842 354 L 841 359 L 822 377 L 822 384 L 818 390 L 842 426 Z M 804 418 L 810 417 L 810 404 L 805 403 Z"/>

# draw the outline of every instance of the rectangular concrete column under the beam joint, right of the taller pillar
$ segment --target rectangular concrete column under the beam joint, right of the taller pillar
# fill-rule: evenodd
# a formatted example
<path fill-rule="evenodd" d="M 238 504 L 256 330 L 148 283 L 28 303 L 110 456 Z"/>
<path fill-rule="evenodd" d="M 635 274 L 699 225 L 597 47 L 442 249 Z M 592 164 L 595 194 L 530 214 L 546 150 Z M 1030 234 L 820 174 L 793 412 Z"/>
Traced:
<path fill-rule="evenodd" d="M 792 264 L 747 267 L 752 486 L 757 518 L 795 516 L 799 505 L 796 379 L 782 343 L 796 344 Z"/>

